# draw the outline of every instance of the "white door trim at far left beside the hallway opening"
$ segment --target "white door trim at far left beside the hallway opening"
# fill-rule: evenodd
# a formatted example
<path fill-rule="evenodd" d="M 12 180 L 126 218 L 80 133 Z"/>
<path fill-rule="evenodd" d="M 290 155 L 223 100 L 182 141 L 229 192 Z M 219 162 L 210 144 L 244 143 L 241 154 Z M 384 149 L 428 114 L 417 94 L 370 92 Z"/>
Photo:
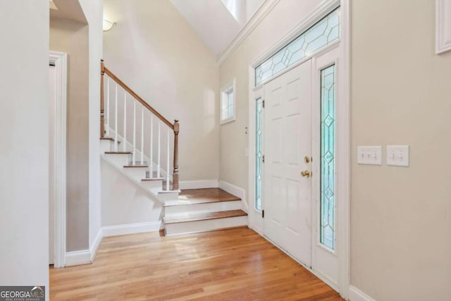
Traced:
<path fill-rule="evenodd" d="M 55 241 L 54 267 L 65 266 L 66 254 L 66 106 L 67 106 L 67 54 L 50 51 L 49 63 L 56 70 L 56 106 L 54 128 L 54 189 L 55 189 Z"/>

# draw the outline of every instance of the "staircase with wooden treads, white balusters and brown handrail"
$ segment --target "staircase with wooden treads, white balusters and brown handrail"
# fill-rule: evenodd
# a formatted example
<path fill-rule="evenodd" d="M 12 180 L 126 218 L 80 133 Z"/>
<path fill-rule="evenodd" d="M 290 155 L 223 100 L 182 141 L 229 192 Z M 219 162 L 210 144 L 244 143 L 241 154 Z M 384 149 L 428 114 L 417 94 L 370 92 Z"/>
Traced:
<path fill-rule="evenodd" d="M 163 205 L 166 235 L 246 226 L 239 197 L 219 188 L 179 190 L 178 132 L 178 121 L 161 116 L 101 61 L 101 159 Z"/>

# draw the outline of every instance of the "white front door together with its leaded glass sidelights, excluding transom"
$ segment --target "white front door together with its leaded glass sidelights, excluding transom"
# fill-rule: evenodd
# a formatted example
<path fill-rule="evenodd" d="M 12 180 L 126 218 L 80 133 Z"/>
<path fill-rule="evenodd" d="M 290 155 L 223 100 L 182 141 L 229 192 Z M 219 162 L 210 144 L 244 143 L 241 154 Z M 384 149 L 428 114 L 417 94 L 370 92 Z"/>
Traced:
<path fill-rule="evenodd" d="M 262 149 L 254 179 L 262 211 L 257 232 L 336 290 L 342 221 L 335 197 L 339 55 L 337 46 L 330 47 L 265 82 L 254 97 L 255 135 L 261 136 L 255 149 Z"/>

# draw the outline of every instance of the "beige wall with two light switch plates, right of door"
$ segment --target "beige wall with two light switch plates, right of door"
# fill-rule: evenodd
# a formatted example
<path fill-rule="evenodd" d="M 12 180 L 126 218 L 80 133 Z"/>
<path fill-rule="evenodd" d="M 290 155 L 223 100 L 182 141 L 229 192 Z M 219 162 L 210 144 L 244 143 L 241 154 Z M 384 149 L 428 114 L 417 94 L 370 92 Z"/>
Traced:
<path fill-rule="evenodd" d="M 450 300 L 451 52 L 435 55 L 435 1 L 351 7 L 351 283 Z M 410 166 L 357 165 L 359 145 L 410 145 Z"/>

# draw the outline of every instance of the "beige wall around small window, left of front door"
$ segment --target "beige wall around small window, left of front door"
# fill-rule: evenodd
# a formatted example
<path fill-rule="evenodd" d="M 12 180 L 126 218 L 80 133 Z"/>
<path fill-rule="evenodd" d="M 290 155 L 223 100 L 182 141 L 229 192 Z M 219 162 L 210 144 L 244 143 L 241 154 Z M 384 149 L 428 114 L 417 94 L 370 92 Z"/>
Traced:
<path fill-rule="evenodd" d="M 245 156 L 245 149 L 248 147 L 245 127 L 249 125 L 249 63 L 300 23 L 304 16 L 320 2 L 319 0 L 280 0 L 255 30 L 221 64 L 220 87 L 236 78 L 237 113 L 236 121 L 221 125 L 219 128 L 220 180 L 247 190 L 248 159 L 253 159 L 252 155 Z"/>

